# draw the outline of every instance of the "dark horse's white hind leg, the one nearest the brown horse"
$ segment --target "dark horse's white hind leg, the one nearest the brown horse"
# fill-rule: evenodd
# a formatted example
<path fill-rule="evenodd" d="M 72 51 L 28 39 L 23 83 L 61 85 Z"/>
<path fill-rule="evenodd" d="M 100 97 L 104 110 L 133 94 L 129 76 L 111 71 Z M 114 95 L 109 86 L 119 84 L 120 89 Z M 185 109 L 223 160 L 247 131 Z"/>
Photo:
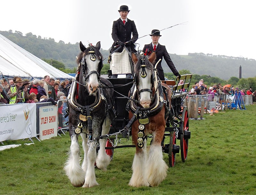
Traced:
<path fill-rule="evenodd" d="M 110 129 L 111 120 L 109 117 L 106 118 L 106 121 L 103 122 L 102 125 L 102 132 L 101 135 L 106 135 Z M 96 159 L 96 166 L 98 169 L 103 171 L 107 170 L 107 166 L 110 163 L 110 157 L 106 154 L 105 146 L 106 146 L 106 139 L 100 139 L 100 150 L 98 151 L 97 159 Z"/>

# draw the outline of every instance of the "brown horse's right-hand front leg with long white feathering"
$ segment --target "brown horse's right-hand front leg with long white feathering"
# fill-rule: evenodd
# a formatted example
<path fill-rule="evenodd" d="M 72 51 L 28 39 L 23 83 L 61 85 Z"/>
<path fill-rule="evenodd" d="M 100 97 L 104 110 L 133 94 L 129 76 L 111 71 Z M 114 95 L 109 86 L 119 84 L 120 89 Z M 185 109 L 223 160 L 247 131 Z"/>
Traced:
<path fill-rule="evenodd" d="M 159 185 L 167 176 L 168 166 L 164 162 L 161 140 L 164 136 L 164 129 L 153 132 L 153 142 L 150 146 L 147 161 L 147 178 L 151 186 Z"/>

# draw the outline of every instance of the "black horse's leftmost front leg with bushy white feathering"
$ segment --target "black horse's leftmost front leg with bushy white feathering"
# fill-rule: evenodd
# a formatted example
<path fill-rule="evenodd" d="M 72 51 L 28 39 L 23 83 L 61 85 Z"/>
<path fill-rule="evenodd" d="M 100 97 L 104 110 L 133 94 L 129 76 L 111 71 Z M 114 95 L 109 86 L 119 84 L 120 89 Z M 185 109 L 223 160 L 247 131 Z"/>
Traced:
<path fill-rule="evenodd" d="M 78 135 L 74 133 L 74 127 L 70 129 L 71 145 L 68 161 L 65 164 L 64 170 L 71 184 L 75 187 L 81 187 L 84 184 L 85 172 L 80 166 Z"/>

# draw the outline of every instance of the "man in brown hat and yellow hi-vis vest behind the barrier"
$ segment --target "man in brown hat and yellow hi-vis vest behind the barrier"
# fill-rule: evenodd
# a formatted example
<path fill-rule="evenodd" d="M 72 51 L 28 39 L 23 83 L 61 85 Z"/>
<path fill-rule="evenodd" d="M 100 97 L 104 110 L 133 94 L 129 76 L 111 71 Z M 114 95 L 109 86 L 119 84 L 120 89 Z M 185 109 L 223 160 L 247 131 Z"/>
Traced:
<path fill-rule="evenodd" d="M 28 89 L 23 85 L 23 80 L 18 77 L 15 79 L 15 86 L 10 87 L 8 95 L 11 98 L 10 104 L 25 103 L 25 99 L 28 98 Z"/>

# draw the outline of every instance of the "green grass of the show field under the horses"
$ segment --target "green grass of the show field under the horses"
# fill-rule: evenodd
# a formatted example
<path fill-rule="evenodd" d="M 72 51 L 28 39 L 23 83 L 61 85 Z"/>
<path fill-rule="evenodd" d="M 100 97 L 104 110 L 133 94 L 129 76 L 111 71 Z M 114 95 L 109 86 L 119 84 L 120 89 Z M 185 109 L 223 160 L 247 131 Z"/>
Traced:
<path fill-rule="evenodd" d="M 135 148 L 119 148 L 106 172 L 96 169 L 99 186 L 75 188 L 63 170 L 69 135 L 42 142 L 35 139 L 35 145 L 0 151 L 0 194 L 255 194 L 255 116 L 256 107 L 250 105 L 246 110 L 189 120 L 188 159 L 183 163 L 176 154 L 175 166 L 157 187 L 128 186 Z M 127 144 L 126 139 L 121 143 Z M 167 154 L 164 160 L 168 164 Z"/>

